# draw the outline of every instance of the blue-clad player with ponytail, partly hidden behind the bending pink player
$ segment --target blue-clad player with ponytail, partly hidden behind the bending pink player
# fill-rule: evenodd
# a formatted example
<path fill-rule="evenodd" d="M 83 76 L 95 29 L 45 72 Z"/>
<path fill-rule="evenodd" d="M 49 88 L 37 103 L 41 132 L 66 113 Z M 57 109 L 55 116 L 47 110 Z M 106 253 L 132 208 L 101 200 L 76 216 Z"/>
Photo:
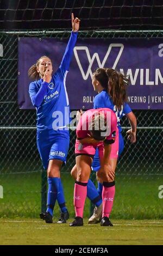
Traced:
<path fill-rule="evenodd" d="M 126 85 L 127 80 L 126 78 L 118 73 L 113 69 L 104 69 L 99 68 L 93 73 L 92 77 L 92 85 L 98 95 L 95 96 L 93 102 L 93 108 L 104 108 L 108 107 L 112 109 L 117 115 L 117 126 L 118 126 L 118 133 L 119 133 L 119 150 L 118 150 L 118 157 L 120 157 L 123 148 L 124 148 L 124 141 L 122 137 L 122 129 L 120 120 L 123 115 L 126 115 L 128 118 L 131 129 L 127 131 L 128 139 L 130 139 L 131 143 L 135 143 L 136 141 L 136 118 L 133 112 L 131 111 L 128 103 L 126 102 Z M 79 114 L 79 113 L 78 113 Z M 114 149 L 115 143 L 112 144 L 112 150 Z M 110 165 L 115 172 L 117 159 L 110 157 Z M 96 154 L 93 159 L 92 169 L 96 172 L 100 169 L 100 162 L 98 157 L 98 148 L 96 150 Z M 76 179 L 76 166 L 72 169 L 72 176 Z M 102 216 L 102 204 L 101 204 L 101 195 L 103 184 L 100 182 L 101 180 L 98 179 L 98 189 L 96 191 L 95 185 L 91 180 L 89 180 L 87 185 L 87 197 L 91 199 L 92 203 L 96 205 L 93 215 L 89 219 L 89 223 L 98 223 Z M 110 190 L 114 189 L 115 193 L 115 181 L 113 180 L 110 182 Z M 97 193 L 98 192 L 98 193 Z M 114 198 L 112 198 L 113 203 Z M 111 209 L 111 208 L 110 208 Z M 110 215 L 110 213 L 109 213 Z M 104 221 L 105 222 L 105 221 Z M 107 220 L 106 220 L 107 223 Z M 103 223 L 104 225 L 106 223 Z"/>

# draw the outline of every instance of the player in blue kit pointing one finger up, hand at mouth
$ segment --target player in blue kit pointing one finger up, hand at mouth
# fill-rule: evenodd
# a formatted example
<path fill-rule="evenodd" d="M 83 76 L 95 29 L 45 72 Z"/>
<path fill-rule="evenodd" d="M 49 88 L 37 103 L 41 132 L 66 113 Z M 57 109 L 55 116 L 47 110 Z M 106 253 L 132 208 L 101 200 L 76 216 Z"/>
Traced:
<path fill-rule="evenodd" d="M 37 148 L 48 177 L 47 210 L 40 214 L 40 218 L 46 223 L 53 222 L 56 199 L 61 208 L 59 223 L 66 223 L 68 218 L 60 169 L 66 162 L 70 142 L 67 128 L 70 108 L 65 81 L 77 41 L 79 23 L 80 20 L 74 19 L 72 14 L 70 40 L 59 69 L 54 75 L 51 59 L 46 56 L 40 57 L 28 71 L 29 77 L 35 80 L 29 85 L 29 94 L 37 113 Z"/>

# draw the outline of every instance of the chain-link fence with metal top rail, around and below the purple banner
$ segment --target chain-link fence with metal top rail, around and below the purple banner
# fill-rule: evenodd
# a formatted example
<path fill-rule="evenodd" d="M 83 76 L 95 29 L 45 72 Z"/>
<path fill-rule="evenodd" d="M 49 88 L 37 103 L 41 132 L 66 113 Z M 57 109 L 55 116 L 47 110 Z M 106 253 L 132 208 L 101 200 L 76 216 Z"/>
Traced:
<path fill-rule="evenodd" d="M 36 113 L 17 105 L 17 42 L 20 37 L 68 38 L 68 31 L 0 32 L 0 217 L 37 217 L 46 203 L 46 172 L 36 148 Z M 83 31 L 80 38 L 156 38 L 163 31 Z M 112 218 L 162 218 L 163 124 L 162 111 L 134 111 L 137 142 L 127 142 L 128 121 L 122 121 L 125 148 L 116 171 L 116 197 Z M 71 131 L 67 165 L 62 181 L 68 210 L 73 217 L 75 131 Z M 95 178 L 95 175 L 92 175 Z M 58 206 L 55 216 L 58 216 Z M 90 215 L 90 202 L 85 217 Z"/>

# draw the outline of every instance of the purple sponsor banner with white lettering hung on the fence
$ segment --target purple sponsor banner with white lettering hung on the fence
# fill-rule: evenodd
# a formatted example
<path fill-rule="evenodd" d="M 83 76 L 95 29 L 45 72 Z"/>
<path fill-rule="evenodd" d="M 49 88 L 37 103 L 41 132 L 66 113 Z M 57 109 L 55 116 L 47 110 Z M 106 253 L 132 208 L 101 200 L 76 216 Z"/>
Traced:
<path fill-rule="evenodd" d="M 36 63 L 40 56 L 47 55 L 52 59 L 55 72 L 60 65 L 67 41 L 67 39 L 53 38 L 41 41 L 38 38 L 21 38 L 18 41 L 18 74 L 20 74 L 18 75 L 18 105 L 20 108 L 34 108 L 28 93 L 30 81 L 27 72 L 30 66 Z M 112 47 L 111 44 L 113 44 Z M 120 58 L 115 69 L 118 71 L 123 69 L 124 74 L 131 72 L 133 76 L 133 79 L 132 76 L 130 77 L 132 84 L 128 86 L 130 107 L 133 109 L 163 108 L 163 79 L 161 81 L 163 40 L 161 38 L 78 39 L 76 47 L 87 48 L 75 48 L 76 55 L 73 55 L 70 72 L 67 75 L 66 88 L 71 109 L 92 108 L 93 96 L 96 93 L 93 92 L 90 73 L 100 65 L 107 68 L 114 66 L 118 54 Z M 90 64 L 91 60 L 92 64 Z M 86 76 L 88 70 L 89 73 Z M 143 102 L 140 102 L 142 99 Z"/>

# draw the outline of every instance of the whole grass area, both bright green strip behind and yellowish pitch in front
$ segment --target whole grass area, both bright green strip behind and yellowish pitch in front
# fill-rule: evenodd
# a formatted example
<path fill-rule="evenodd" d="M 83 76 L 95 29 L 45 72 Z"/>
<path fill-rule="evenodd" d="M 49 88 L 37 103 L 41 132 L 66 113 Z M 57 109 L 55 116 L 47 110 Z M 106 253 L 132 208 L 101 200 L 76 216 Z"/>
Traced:
<path fill-rule="evenodd" d="M 90 202 L 86 199 L 84 226 L 69 227 L 74 217 L 73 185 L 69 173 L 62 174 L 70 220 L 57 224 L 39 219 L 41 174 L 2 174 L 3 199 L 0 199 L 1 245 L 162 245 L 163 210 L 159 186 L 162 176 L 117 175 L 116 196 L 111 221 L 114 227 L 87 224 Z"/>

